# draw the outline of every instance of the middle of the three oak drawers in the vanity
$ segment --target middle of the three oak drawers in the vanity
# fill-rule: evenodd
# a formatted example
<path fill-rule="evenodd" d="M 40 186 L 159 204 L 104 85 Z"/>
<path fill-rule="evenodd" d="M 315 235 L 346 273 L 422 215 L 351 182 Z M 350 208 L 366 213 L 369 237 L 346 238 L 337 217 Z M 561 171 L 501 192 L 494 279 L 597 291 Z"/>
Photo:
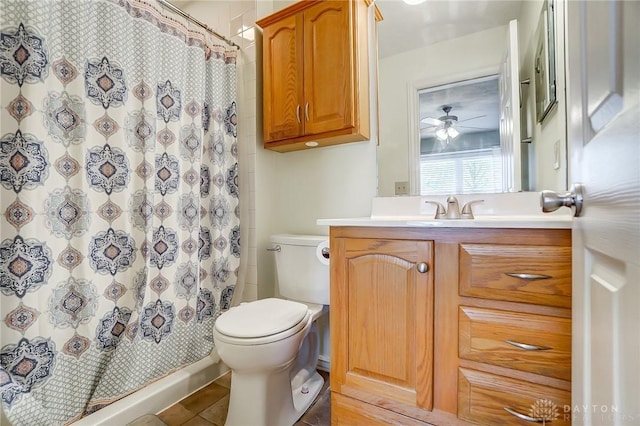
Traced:
<path fill-rule="evenodd" d="M 461 359 L 571 380 L 570 319 L 468 306 L 458 316 Z"/>

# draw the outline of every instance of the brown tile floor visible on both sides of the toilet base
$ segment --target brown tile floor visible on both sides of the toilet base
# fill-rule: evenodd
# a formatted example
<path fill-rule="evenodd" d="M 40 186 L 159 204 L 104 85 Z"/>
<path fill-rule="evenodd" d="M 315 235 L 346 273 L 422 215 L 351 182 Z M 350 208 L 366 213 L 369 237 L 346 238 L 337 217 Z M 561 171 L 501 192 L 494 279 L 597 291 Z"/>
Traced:
<path fill-rule="evenodd" d="M 294 426 L 331 424 L 329 373 L 319 373 L 325 379 L 324 387 L 313 405 Z M 229 406 L 230 386 L 231 373 L 228 373 L 160 414 L 143 416 L 127 426 L 223 426 Z"/>

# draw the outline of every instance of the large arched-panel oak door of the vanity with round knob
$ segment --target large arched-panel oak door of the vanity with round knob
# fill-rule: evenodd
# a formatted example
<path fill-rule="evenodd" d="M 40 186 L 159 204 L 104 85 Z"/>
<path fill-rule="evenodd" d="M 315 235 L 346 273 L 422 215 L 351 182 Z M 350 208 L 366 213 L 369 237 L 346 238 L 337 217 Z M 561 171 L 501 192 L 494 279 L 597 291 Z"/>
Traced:
<path fill-rule="evenodd" d="M 332 245 L 332 390 L 400 413 L 431 410 L 433 243 L 336 238 Z"/>

